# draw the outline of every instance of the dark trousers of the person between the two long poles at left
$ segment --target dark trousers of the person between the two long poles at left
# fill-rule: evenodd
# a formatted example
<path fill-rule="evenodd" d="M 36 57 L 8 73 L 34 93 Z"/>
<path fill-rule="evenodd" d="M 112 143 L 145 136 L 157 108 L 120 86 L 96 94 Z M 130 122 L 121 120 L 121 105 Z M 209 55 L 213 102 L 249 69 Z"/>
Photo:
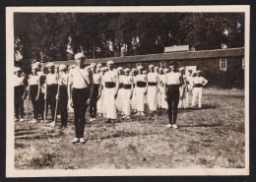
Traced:
<path fill-rule="evenodd" d="M 56 94 L 58 85 L 47 85 L 47 96 L 46 96 L 46 117 L 48 114 L 48 107 L 50 106 L 51 119 L 54 120 L 55 107 L 56 107 Z"/>

